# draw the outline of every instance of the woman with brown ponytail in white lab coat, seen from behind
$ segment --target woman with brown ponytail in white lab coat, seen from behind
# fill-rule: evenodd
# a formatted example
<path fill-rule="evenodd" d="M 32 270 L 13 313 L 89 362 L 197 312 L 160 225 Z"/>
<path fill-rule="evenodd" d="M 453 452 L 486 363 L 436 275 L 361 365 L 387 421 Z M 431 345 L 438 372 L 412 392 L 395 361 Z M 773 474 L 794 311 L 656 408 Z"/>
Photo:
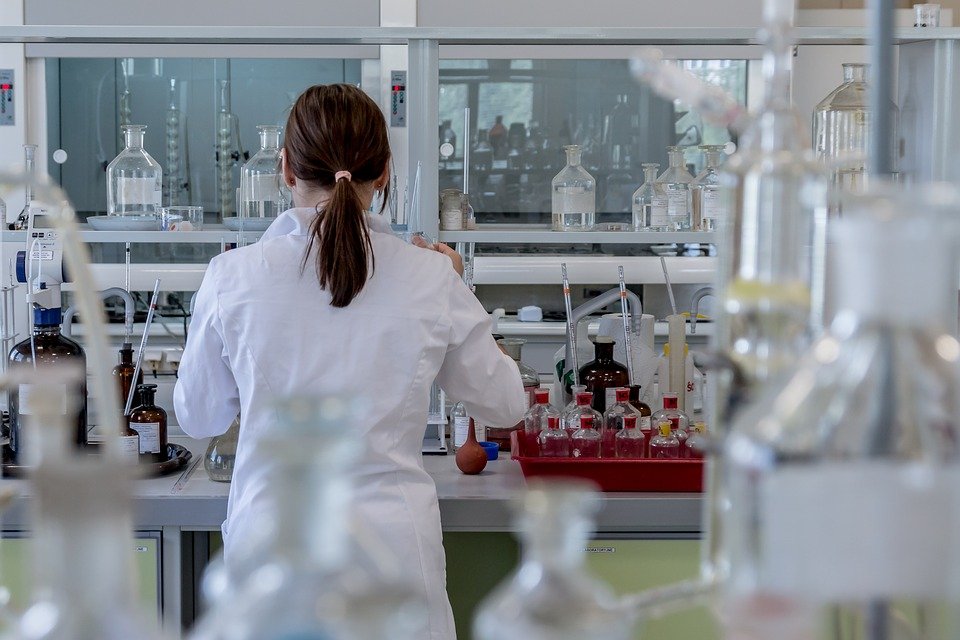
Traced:
<path fill-rule="evenodd" d="M 204 438 L 242 416 L 223 524 L 229 566 L 266 512 L 268 470 L 252 452 L 276 428 L 271 399 L 364 398 L 366 417 L 344 425 L 366 445 L 354 469 L 354 516 L 428 603 L 429 638 L 449 640 L 440 512 L 420 454 L 430 386 L 436 380 L 481 422 L 514 424 L 525 408 L 519 372 L 456 272 L 458 256 L 406 244 L 365 213 L 389 181 L 376 103 L 346 84 L 311 87 L 284 138 L 295 208 L 256 244 L 210 262 L 180 362 L 177 419 Z"/>

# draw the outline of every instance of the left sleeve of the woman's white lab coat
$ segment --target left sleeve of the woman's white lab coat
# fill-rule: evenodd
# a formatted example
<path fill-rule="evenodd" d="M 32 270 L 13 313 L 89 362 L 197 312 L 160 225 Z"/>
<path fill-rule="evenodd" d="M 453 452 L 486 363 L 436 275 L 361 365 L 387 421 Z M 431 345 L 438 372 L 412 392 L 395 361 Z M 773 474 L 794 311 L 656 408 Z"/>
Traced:
<path fill-rule="evenodd" d="M 187 345 L 177 371 L 173 405 L 184 433 L 220 435 L 240 411 L 240 393 L 223 340 L 215 261 L 204 275 L 190 320 Z"/>

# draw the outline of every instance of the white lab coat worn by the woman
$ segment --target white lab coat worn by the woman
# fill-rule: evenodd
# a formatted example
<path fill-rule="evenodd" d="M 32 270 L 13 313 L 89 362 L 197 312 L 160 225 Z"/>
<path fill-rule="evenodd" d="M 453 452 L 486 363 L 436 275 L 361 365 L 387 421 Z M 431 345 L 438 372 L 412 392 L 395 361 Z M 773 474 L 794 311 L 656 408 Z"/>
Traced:
<path fill-rule="evenodd" d="M 367 215 L 375 271 L 349 306 L 320 289 L 314 257 L 301 275 L 313 209 L 291 209 L 256 244 L 210 262 L 196 297 L 174 391 L 183 430 L 221 434 L 242 416 L 223 523 L 227 563 L 265 513 L 267 470 L 252 441 L 276 427 L 275 396 L 362 395 L 366 452 L 353 514 L 400 563 L 429 604 L 430 640 L 455 638 L 446 596 L 440 512 L 420 453 L 434 379 L 477 420 L 514 424 L 525 396 L 514 362 L 450 259 L 404 243 Z M 452 458 L 450 464 L 453 464 Z"/>

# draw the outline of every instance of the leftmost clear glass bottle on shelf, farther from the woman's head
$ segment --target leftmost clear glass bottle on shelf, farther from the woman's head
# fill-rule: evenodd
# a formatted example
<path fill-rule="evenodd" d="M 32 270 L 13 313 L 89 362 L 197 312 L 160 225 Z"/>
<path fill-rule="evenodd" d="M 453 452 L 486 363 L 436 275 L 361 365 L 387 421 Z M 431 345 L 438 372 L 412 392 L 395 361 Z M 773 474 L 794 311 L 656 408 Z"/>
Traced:
<path fill-rule="evenodd" d="M 163 193 L 163 169 L 143 148 L 147 127 L 122 127 L 126 147 L 107 165 L 107 215 L 154 215 Z"/>

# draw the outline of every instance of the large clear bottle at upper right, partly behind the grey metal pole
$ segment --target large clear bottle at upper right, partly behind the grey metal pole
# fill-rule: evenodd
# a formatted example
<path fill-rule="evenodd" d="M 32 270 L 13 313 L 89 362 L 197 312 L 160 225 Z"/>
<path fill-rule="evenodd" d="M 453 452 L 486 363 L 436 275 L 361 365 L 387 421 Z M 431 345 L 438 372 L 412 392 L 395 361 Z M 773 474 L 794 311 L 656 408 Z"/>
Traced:
<path fill-rule="evenodd" d="M 843 64 L 843 83 L 827 94 L 813 112 L 813 144 L 817 159 L 826 165 L 834 187 L 853 193 L 865 187 L 870 146 L 867 105 L 867 65 Z M 897 125 L 899 110 L 891 103 L 894 130 L 890 134 L 890 166 L 899 156 Z"/>

